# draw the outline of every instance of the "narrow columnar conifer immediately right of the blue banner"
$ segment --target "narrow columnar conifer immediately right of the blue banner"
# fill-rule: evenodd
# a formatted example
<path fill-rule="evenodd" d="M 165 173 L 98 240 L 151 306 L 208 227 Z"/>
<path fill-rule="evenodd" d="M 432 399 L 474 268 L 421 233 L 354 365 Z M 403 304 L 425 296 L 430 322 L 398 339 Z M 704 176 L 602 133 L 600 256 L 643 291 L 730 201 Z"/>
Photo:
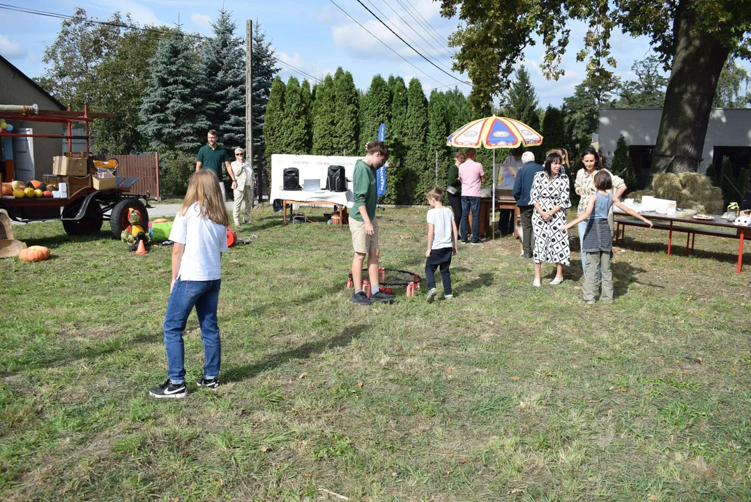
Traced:
<path fill-rule="evenodd" d="M 405 125 L 407 121 L 407 87 L 402 77 L 388 77 L 391 89 L 391 122 L 386 125 L 386 139 L 391 152 L 390 164 L 396 164 L 388 170 L 385 200 L 388 203 L 409 203 L 412 194 L 403 183 L 406 179 L 405 167 Z"/>

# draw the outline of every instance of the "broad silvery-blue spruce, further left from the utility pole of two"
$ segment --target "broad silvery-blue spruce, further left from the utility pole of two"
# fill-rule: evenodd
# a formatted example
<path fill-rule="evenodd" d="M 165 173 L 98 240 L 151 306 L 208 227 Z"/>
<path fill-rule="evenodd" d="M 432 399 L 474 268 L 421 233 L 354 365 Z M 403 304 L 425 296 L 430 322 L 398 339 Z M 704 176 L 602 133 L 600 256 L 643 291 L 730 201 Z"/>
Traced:
<path fill-rule="evenodd" d="M 139 117 L 143 134 L 157 152 L 195 154 L 206 140 L 209 121 L 197 92 L 198 57 L 192 40 L 178 28 L 164 38 L 151 61 L 149 86 Z"/>

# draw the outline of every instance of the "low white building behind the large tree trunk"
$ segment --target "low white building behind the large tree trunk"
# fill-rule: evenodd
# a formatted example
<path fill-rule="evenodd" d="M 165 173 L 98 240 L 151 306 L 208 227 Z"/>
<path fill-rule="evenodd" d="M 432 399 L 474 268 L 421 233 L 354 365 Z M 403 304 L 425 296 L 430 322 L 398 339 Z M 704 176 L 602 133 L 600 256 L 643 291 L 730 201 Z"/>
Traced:
<path fill-rule="evenodd" d="M 629 146 L 629 157 L 637 173 L 649 170 L 652 151 L 662 119 L 662 108 L 601 108 L 599 148 L 612 158 L 618 137 L 623 134 Z M 751 164 L 751 109 L 713 108 L 701 154 L 699 172 L 705 173 L 714 164 L 719 173 L 729 158 L 734 175 Z M 644 172 L 644 175 L 647 173 Z"/>

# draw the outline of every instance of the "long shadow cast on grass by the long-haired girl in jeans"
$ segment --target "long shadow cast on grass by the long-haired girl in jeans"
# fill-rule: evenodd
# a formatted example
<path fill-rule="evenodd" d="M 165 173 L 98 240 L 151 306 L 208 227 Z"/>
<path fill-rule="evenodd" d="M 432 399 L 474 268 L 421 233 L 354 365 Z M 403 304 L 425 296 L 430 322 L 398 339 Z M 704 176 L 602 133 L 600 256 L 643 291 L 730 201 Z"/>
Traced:
<path fill-rule="evenodd" d="M 223 371 L 224 376 L 222 377 L 222 380 L 225 382 L 239 382 L 241 380 L 255 377 L 255 375 L 260 374 L 263 371 L 276 368 L 277 366 L 283 365 L 285 362 L 294 359 L 308 359 L 309 357 L 323 353 L 330 348 L 345 347 L 345 345 L 350 344 L 354 338 L 357 338 L 365 332 L 366 329 L 367 326 L 364 324 L 349 326 L 342 330 L 339 335 L 330 338 L 323 338 L 317 341 L 310 341 L 306 344 L 300 345 L 300 347 L 273 354 L 264 361 L 230 367 Z"/>

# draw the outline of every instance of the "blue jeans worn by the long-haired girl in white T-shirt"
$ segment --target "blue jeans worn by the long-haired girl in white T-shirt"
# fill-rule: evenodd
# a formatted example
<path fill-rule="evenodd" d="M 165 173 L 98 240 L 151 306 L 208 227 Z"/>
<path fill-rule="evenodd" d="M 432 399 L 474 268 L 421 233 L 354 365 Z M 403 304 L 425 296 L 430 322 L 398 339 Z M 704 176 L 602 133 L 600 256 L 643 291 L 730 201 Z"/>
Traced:
<path fill-rule="evenodd" d="M 216 281 L 181 281 L 177 279 L 170 293 L 167 314 L 164 315 L 164 347 L 167 348 L 167 376 L 172 383 L 185 382 L 185 346 L 182 332 L 193 307 L 201 323 L 201 338 L 204 341 L 204 378 L 219 376 L 222 364 L 222 342 L 219 340 L 219 324 L 216 308 L 219 305 L 219 290 L 222 279 Z"/>

